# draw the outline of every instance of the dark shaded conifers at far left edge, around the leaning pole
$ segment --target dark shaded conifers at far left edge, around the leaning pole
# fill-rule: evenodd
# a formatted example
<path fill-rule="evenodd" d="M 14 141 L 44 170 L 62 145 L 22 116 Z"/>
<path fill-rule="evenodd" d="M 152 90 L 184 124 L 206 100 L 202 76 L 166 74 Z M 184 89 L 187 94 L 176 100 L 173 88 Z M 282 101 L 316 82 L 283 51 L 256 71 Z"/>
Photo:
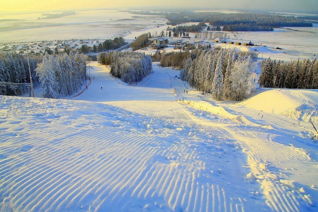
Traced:
<path fill-rule="evenodd" d="M 33 84 L 38 83 L 35 73 L 36 64 L 42 60 L 40 55 L 30 55 L 30 70 Z M 0 51 L 0 81 L 6 83 L 30 83 L 30 74 L 27 57 L 19 53 Z M 0 84 L 0 95 L 21 95 L 28 88 L 19 84 L 16 86 Z"/>

